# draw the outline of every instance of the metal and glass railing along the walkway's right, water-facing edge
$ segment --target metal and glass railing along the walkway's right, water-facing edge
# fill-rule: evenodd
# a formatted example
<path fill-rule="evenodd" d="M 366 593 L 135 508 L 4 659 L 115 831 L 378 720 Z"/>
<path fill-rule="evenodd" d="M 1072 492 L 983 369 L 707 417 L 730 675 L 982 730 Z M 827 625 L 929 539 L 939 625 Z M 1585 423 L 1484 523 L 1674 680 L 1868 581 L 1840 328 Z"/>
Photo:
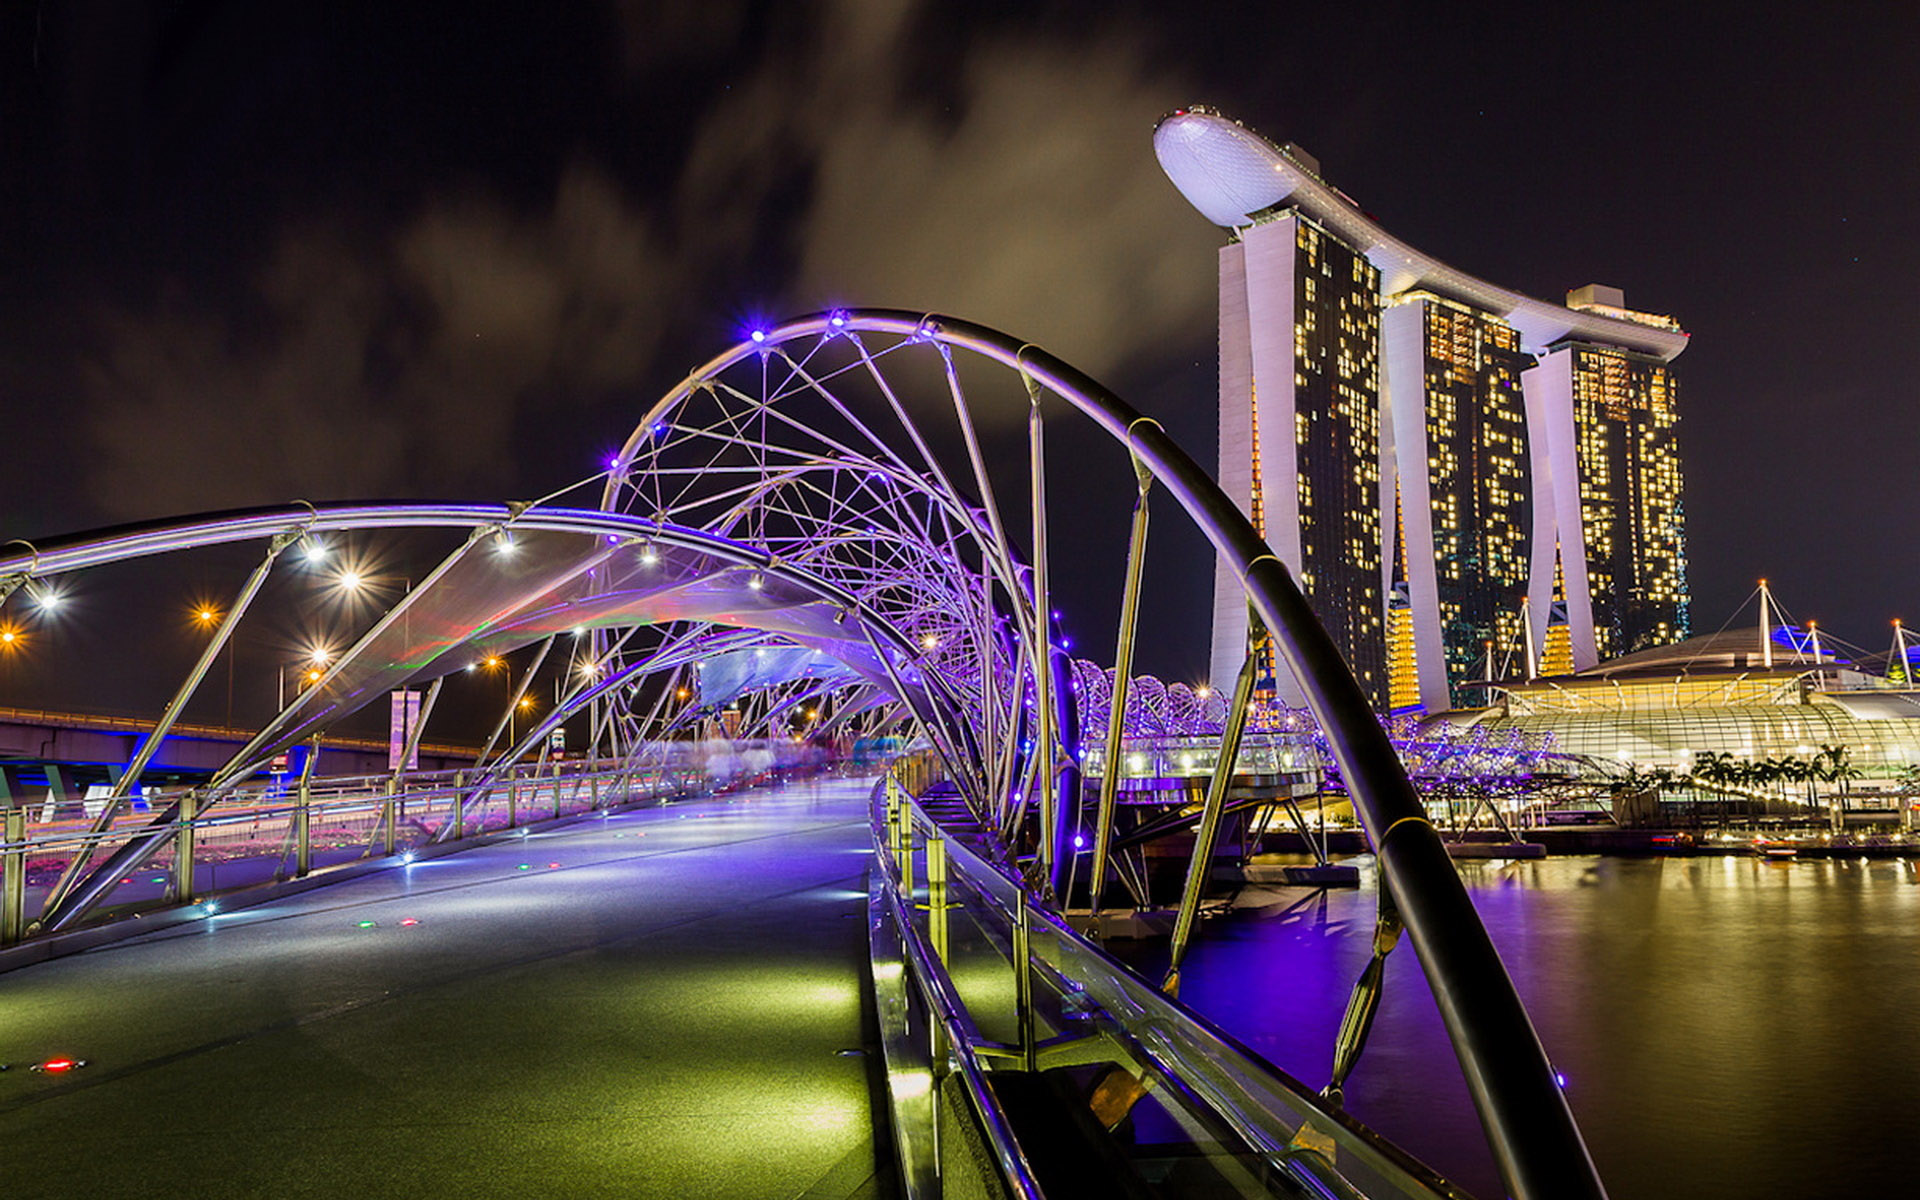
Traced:
<path fill-rule="evenodd" d="M 874 987 L 908 1196 L 1461 1198 L 874 791 Z"/>

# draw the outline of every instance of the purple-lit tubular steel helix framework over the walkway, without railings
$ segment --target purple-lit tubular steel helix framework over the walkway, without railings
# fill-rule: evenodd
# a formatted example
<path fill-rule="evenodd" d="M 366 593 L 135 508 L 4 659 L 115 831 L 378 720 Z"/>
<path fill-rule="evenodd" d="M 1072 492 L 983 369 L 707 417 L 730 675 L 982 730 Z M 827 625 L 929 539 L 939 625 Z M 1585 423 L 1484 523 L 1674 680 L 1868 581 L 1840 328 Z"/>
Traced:
<path fill-rule="evenodd" d="M 1008 438 L 983 434 L 987 424 L 1004 430 L 1010 415 L 1025 424 L 1012 453 Z M 211 791 L 390 689 L 432 684 L 515 647 L 540 643 L 545 657 L 555 639 L 578 634 L 582 668 L 563 703 L 490 762 L 536 753 L 582 708 L 593 712 L 593 753 L 616 755 L 641 755 L 676 722 L 747 697 L 755 699 L 741 703 L 741 720 L 760 728 L 801 703 L 843 720 L 893 708 L 925 735 L 1012 852 L 1031 851 L 1029 877 L 1044 895 L 1073 858 L 1069 837 L 1085 828 L 1073 668 L 1050 618 L 1046 444 L 1048 424 L 1062 417 L 1104 430 L 1139 480 L 1119 670 L 1104 678 L 1100 703 L 1129 710 L 1117 691 L 1131 684 L 1148 493 L 1158 488 L 1242 580 L 1281 662 L 1302 680 L 1515 1194 L 1599 1194 L 1553 1071 L 1446 849 L 1284 566 L 1158 422 L 996 330 L 885 309 L 753 330 L 639 420 L 607 467 L 599 511 L 301 505 L 165 522 L 0 557 L 0 597 L 44 591 L 50 576 L 111 561 L 265 541 L 261 564 L 169 705 L 171 716 L 288 547 L 326 530 L 465 530 L 432 572 L 215 772 Z M 1087 518 L 1075 511 L 1075 520 Z M 1250 678 L 1252 668 L 1229 712 L 1235 745 Z M 697 703 L 676 707 L 684 693 Z M 509 697 L 509 714 L 516 699 Z M 1171 693 L 1150 707 L 1190 714 L 1198 699 Z M 129 770 L 119 787 L 136 778 Z M 486 785 L 484 772 L 474 785 Z"/>

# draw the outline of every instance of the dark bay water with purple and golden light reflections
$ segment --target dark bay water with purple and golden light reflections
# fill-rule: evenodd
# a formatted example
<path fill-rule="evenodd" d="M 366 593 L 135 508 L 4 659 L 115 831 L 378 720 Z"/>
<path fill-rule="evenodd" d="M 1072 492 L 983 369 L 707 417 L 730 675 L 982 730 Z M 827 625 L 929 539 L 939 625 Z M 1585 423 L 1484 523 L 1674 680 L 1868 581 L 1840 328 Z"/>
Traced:
<path fill-rule="evenodd" d="M 1920 1192 L 1920 874 L 1907 862 L 1463 862 L 1615 1200 Z M 1212 922 L 1181 996 L 1313 1087 L 1375 891 Z M 1348 1108 L 1503 1196 L 1402 941 Z"/>

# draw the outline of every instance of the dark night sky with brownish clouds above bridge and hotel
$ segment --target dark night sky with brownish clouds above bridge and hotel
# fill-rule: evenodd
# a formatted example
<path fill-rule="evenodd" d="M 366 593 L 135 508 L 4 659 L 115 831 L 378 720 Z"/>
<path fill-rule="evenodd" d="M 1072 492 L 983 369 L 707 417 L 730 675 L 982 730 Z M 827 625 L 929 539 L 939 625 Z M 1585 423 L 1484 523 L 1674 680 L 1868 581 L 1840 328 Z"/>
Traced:
<path fill-rule="evenodd" d="M 1920 8 L 1720 8 L 15 2 L 0 538 L 536 495 L 833 303 L 1016 332 L 1212 463 L 1221 232 L 1150 146 L 1212 104 L 1442 261 L 1674 315 L 1695 630 L 1764 574 L 1878 649 Z"/>

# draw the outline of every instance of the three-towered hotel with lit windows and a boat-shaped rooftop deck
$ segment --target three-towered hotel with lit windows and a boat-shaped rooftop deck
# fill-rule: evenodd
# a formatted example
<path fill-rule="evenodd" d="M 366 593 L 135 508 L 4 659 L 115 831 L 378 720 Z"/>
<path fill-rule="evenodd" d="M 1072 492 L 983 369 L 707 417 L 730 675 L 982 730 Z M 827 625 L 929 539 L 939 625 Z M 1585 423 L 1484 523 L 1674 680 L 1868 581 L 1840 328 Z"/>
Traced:
<path fill-rule="evenodd" d="M 1672 319 L 1615 288 L 1559 305 L 1438 263 L 1302 150 L 1208 109 L 1165 117 L 1154 152 L 1231 230 L 1219 482 L 1379 708 L 1475 705 L 1484 678 L 1688 636 Z M 1219 580 L 1215 685 L 1246 626 Z"/>

